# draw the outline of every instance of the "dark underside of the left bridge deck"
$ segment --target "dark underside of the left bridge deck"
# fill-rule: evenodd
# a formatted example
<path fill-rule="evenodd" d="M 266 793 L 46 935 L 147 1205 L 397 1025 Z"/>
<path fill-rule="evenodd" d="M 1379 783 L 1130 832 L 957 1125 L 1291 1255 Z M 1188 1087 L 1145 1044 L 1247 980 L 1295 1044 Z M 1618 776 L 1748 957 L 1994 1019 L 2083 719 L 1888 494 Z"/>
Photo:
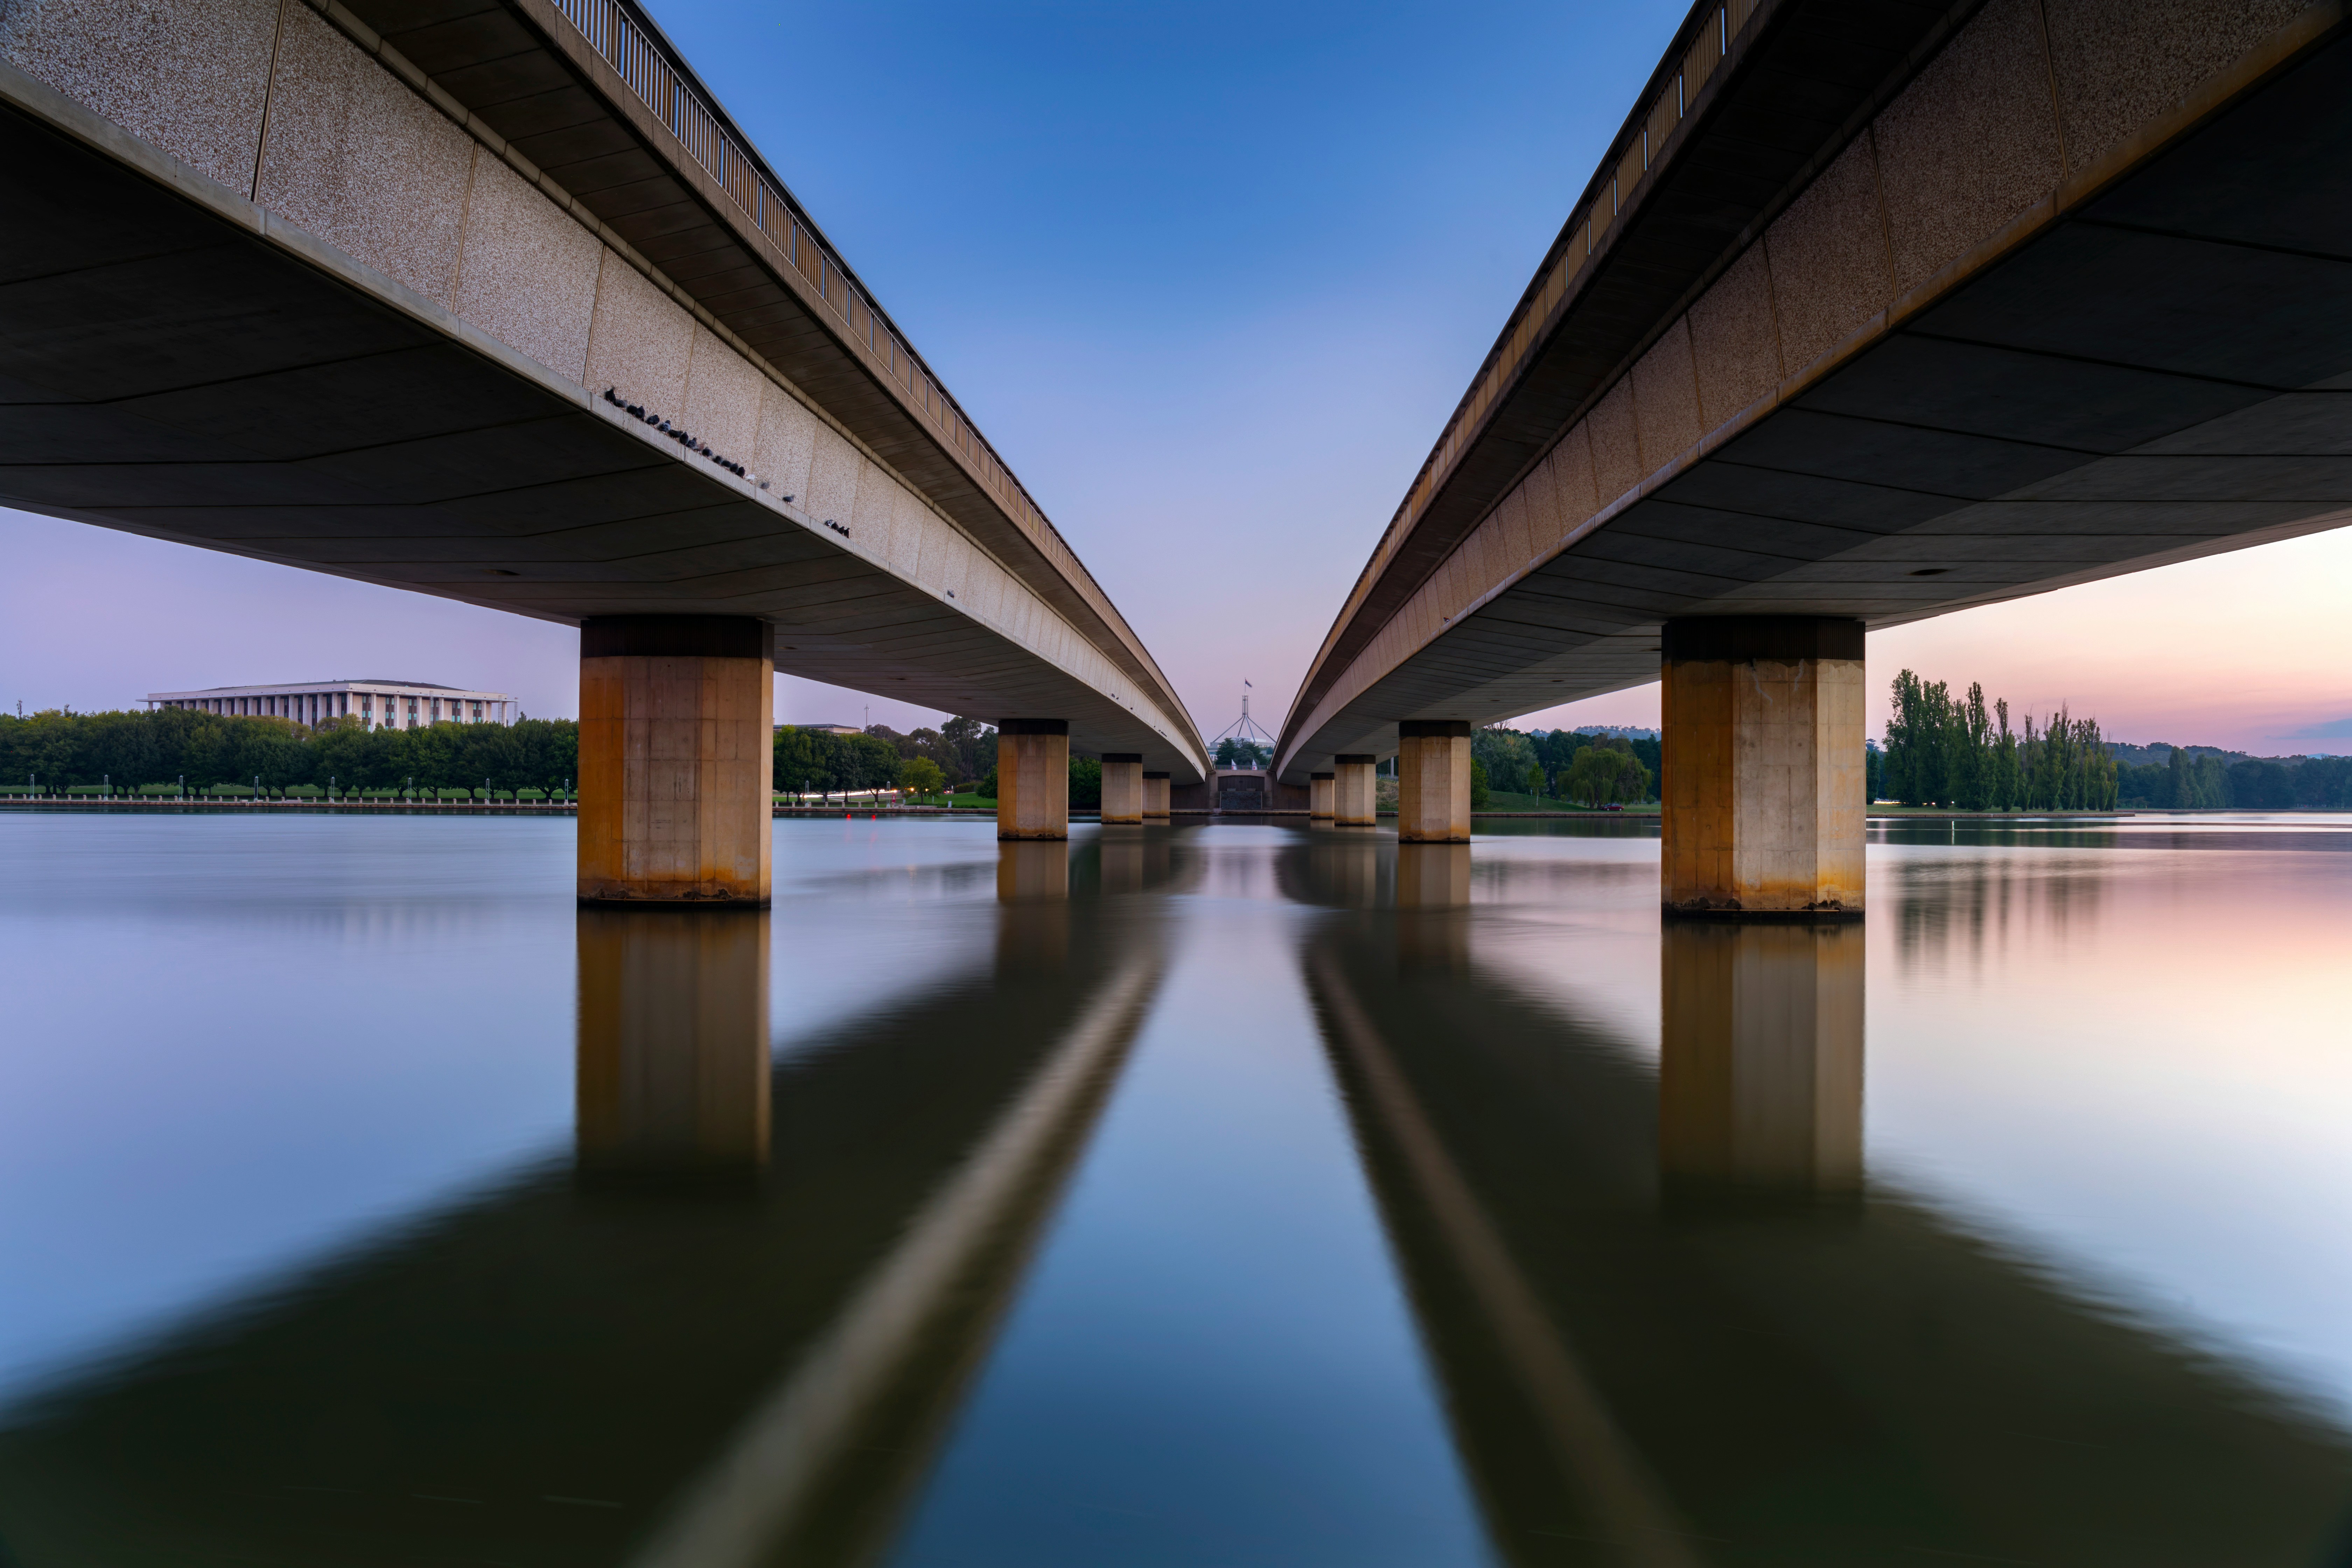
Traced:
<path fill-rule="evenodd" d="M 946 522 L 920 520 L 922 548 L 936 531 L 955 559 L 908 581 L 884 564 L 908 552 L 889 529 L 861 517 L 842 534 L 788 505 L 783 482 L 762 491 L 689 458 L 113 139 L 0 106 L 0 503 L 541 621 L 755 616 L 790 675 L 948 712 L 1068 717 L 1077 750 L 1200 776 L 1190 748 L 1136 712 L 1141 693 L 1040 651 L 1080 635 L 1004 590 Z"/>

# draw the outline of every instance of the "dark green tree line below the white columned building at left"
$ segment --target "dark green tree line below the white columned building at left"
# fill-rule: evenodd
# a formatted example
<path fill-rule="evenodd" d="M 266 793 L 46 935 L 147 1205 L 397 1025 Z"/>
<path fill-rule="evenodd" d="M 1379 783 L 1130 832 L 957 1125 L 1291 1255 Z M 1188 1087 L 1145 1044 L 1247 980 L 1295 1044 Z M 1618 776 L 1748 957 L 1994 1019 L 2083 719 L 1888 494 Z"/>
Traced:
<path fill-rule="evenodd" d="M 188 708 L 0 715 L 0 783 L 40 790 L 101 783 L 209 790 L 256 780 L 268 792 L 560 790 L 579 783 L 579 750 L 572 719 L 369 729 L 343 717 L 310 729 Z"/>

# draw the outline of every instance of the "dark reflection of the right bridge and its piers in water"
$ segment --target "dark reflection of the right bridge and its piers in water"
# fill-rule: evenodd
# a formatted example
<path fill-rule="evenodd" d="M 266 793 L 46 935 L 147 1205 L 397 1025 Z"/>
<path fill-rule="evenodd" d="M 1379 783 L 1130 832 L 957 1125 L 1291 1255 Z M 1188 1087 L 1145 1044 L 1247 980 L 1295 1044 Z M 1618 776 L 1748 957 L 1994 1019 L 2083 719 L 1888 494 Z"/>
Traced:
<path fill-rule="evenodd" d="M 1432 851 L 1284 886 L 1357 910 L 1305 978 L 1510 1563 L 2333 1561 L 2338 1429 L 1865 1182 L 1860 929 L 1668 924 L 1651 1072 Z"/>

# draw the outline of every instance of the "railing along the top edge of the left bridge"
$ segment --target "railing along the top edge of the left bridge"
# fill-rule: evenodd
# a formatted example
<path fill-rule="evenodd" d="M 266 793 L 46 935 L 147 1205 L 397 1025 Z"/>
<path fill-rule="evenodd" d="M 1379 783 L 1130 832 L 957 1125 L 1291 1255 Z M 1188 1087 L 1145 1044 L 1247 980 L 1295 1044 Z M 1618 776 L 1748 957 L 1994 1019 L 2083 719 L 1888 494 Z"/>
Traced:
<path fill-rule="evenodd" d="M 938 435 L 964 456 L 997 505 L 1030 534 L 1063 576 L 1084 585 L 1096 607 L 1117 623 L 1110 599 L 1094 583 L 1077 552 L 981 437 L 938 376 L 906 346 L 906 336 L 889 315 L 842 266 L 840 254 L 816 233 L 816 223 L 786 193 L 783 181 L 750 150 L 750 141 L 731 127 L 727 115 L 696 89 L 691 71 L 670 52 L 652 21 L 642 19 L 628 0 L 553 0 L 553 5 L 588 47 L 619 73 L 637 101 L 677 136 L 687 158 L 720 183 L 753 228 L 767 237 L 776 259 L 795 268 L 833 308 L 844 336 L 882 376 L 896 381 L 908 402 L 922 409 Z"/>

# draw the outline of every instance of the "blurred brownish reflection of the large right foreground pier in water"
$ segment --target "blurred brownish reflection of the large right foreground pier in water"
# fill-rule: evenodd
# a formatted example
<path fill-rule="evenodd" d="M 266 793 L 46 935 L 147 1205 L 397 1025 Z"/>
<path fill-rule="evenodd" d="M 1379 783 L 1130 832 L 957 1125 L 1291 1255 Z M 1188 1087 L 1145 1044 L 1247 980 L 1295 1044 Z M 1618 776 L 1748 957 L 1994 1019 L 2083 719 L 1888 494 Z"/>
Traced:
<path fill-rule="evenodd" d="M 1668 1192 L 1860 1192 L 1860 929 L 1670 919 L 1661 943 L 1658 1173 Z"/>

